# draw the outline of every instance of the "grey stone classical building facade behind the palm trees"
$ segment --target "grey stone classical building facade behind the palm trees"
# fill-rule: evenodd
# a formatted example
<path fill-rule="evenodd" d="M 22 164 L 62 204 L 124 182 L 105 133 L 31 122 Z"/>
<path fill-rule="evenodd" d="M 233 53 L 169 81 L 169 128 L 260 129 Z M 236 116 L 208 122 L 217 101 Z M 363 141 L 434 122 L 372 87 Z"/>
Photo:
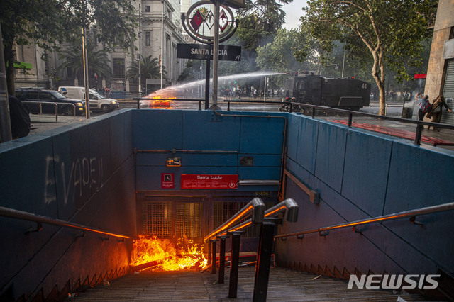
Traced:
<path fill-rule="evenodd" d="M 151 55 L 152 59 L 160 60 L 165 67 L 163 87 L 175 84 L 179 74 L 186 67 L 187 60 L 177 59 L 177 44 L 187 43 L 180 18 L 181 0 L 142 0 L 135 1 L 134 5 L 139 21 L 138 28 L 135 28 L 137 40 L 131 45 L 129 52 L 116 49 L 109 53 L 113 78 L 99 78 L 95 82 L 94 75 L 89 74 L 89 86 L 139 93 L 138 80 L 126 79 L 128 67 L 138 57 Z M 65 62 L 64 58 L 55 53 L 48 55 L 48 60 L 43 60 L 43 52 L 44 50 L 35 44 L 16 45 L 16 60 L 29 63 L 27 66 L 31 66 L 31 69 L 16 69 L 16 87 L 36 86 L 55 89 L 58 86 L 84 85 L 83 78 L 78 79 L 71 69 L 58 68 Z M 142 79 L 142 82 L 145 83 L 145 79 Z"/>

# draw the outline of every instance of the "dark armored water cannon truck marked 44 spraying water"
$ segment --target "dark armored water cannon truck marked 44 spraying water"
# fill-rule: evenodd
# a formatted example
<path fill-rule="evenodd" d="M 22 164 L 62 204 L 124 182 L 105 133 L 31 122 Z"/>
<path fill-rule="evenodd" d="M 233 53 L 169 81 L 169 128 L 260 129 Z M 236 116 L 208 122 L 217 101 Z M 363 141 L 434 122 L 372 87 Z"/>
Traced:
<path fill-rule="evenodd" d="M 298 74 L 287 78 L 284 95 L 301 104 L 312 104 L 359 110 L 370 103 L 370 83 L 358 79 L 328 79 L 314 74 Z M 284 104 L 280 111 L 288 111 Z"/>

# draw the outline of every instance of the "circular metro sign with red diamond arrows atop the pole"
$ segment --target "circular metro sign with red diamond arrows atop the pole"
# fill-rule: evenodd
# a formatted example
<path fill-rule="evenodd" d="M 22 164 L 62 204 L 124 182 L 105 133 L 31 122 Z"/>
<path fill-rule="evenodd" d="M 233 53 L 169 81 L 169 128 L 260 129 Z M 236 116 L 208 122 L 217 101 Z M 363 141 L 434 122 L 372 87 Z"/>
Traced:
<path fill-rule="evenodd" d="M 213 11 L 211 10 L 213 9 Z M 196 41 L 211 44 L 214 40 L 214 4 L 210 0 L 196 2 L 182 13 L 184 30 Z M 224 42 L 235 33 L 238 20 L 228 6 L 221 5 L 219 11 L 219 42 Z"/>

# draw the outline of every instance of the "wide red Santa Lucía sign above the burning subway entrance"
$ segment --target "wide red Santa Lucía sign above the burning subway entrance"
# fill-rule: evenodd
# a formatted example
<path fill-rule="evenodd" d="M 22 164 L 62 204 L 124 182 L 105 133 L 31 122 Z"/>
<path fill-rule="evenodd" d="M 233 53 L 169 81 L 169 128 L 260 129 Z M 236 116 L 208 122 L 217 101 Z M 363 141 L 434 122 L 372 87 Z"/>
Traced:
<path fill-rule="evenodd" d="M 238 175 L 182 174 L 182 189 L 238 189 Z"/>

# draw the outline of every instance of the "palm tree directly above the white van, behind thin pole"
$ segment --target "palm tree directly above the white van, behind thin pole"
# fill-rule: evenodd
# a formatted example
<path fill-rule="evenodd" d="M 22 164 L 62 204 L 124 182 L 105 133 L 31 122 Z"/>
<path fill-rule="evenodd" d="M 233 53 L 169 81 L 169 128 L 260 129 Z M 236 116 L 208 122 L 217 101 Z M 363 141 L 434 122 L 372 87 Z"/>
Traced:
<path fill-rule="evenodd" d="M 77 79 L 83 79 L 84 60 L 82 57 L 82 46 L 74 46 L 68 50 L 63 50 L 62 53 L 65 55 L 66 62 L 60 65 L 58 69 L 71 67 Z M 94 44 L 89 42 L 87 43 L 87 57 L 89 74 L 92 77 L 95 73 L 99 77 L 107 79 L 112 77 L 112 68 L 109 65 L 111 60 L 109 60 L 106 50 L 94 50 Z"/>

